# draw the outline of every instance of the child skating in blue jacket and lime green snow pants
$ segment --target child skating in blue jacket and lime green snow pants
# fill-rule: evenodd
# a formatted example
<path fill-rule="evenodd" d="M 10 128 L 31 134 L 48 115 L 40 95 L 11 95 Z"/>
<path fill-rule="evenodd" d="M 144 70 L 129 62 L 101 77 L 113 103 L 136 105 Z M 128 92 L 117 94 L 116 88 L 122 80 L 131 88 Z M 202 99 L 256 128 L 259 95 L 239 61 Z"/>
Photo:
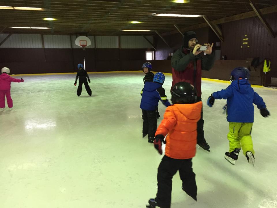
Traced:
<path fill-rule="evenodd" d="M 207 100 L 207 105 L 212 107 L 214 99 L 227 99 L 227 121 L 230 132 L 229 152 L 225 153 L 225 159 L 235 165 L 242 148 L 248 163 L 254 166 L 254 149 L 251 138 L 252 125 L 254 122 L 254 106 L 257 105 L 263 117 L 269 116 L 263 99 L 254 92 L 248 79 L 249 70 L 245 67 L 237 67 L 231 72 L 231 85 L 225 90 L 212 93 Z"/>

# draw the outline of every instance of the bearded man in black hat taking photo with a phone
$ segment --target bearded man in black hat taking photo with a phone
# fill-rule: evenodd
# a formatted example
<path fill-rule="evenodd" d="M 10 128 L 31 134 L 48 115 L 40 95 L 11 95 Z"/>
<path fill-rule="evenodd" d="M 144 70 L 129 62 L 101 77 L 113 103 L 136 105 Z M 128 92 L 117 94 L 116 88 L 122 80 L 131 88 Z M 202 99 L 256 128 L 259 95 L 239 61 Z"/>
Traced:
<path fill-rule="evenodd" d="M 181 46 L 171 58 L 172 66 L 172 87 L 181 81 L 192 84 L 197 90 L 197 101 L 201 101 L 201 70 L 210 70 L 214 65 L 215 55 L 212 53 L 213 43 L 204 44 L 207 49 L 205 57 L 202 57 L 199 51 L 202 45 L 197 44 L 198 40 L 194 31 L 184 33 L 183 46 Z M 172 89 L 171 87 L 171 89 Z M 197 144 L 204 150 L 209 151 L 209 144 L 204 137 L 203 109 L 201 119 L 197 122 Z"/>

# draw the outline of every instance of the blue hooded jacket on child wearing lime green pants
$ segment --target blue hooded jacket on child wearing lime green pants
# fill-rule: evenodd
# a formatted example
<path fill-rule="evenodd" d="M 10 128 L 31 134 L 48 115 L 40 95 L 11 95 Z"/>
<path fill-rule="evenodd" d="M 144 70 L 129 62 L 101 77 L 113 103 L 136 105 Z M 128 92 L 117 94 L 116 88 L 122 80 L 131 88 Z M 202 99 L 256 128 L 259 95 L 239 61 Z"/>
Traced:
<path fill-rule="evenodd" d="M 215 99 L 227 99 L 227 121 L 254 122 L 254 106 L 266 108 L 263 99 L 254 92 L 247 79 L 234 80 L 225 90 L 214 92 Z"/>

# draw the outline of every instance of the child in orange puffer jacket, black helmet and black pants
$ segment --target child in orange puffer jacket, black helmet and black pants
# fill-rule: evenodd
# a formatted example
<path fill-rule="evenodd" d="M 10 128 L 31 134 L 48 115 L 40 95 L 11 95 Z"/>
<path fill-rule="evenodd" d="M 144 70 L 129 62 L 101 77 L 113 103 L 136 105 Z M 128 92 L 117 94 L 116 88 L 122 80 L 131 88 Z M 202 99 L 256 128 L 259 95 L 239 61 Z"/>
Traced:
<path fill-rule="evenodd" d="M 197 200 L 192 157 L 196 153 L 197 122 L 201 118 L 202 101 L 196 102 L 197 91 L 187 82 L 176 83 L 171 95 L 173 105 L 166 108 L 164 119 L 155 133 L 155 148 L 162 154 L 162 142 L 166 143 L 166 147 L 158 168 L 158 192 L 155 199 L 149 200 L 149 205 L 146 206 L 148 208 L 170 208 L 172 177 L 177 170 L 182 180 L 182 189 Z"/>

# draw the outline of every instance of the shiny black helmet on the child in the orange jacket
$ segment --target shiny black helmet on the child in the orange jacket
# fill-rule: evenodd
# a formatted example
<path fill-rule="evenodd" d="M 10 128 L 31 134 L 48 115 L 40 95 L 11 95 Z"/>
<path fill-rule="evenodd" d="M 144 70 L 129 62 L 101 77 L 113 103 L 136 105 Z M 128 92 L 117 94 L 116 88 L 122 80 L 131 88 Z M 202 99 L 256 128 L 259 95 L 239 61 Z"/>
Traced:
<path fill-rule="evenodd" d="M 187 82 L 176 83 L 171 90 L 171 95 L 173 104 L 195 103 L 197 99 L 196 88 Z"/>

